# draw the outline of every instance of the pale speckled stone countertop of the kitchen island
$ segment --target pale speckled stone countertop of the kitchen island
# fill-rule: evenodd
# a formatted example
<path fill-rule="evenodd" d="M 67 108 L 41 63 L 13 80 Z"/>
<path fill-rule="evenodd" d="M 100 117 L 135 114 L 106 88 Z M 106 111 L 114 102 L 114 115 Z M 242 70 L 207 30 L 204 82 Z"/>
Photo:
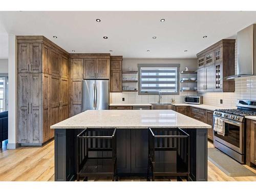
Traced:
<path fill-rule="evenodd" d="M 122 129 L 180 127 L 210 129 L 211 126 L 173 110 L 88 110 L 51 126 L 51 129 L 84 129 L 86 127 Z"/>

